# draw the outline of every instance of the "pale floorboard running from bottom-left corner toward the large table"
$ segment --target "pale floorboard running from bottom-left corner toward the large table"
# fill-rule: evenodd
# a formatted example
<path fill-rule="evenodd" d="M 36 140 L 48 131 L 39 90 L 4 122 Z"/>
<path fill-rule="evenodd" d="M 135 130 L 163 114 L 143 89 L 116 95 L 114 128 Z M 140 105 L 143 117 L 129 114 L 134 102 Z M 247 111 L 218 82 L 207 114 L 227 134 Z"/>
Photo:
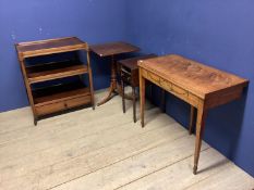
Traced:
<path fill-rule="evenodd" d="M 66 162 L 57 163 L 48 167 L 35 170 L 28 175 L 12 180 L 2 181 L 5 190 L 9 189 L 48 189 L 65 181 L 73 180 L 83 175 L 90 174 L 102 167 L 112 165 L 135 154 L 147 151 L 158 144 L 186 136 L 186 131 L 179 126 L 164 127 L 156 131 L 149 131 L 143 136 L 132 138 L 74 157 Z M 171 134 L 174 131 L 174 134 Z M 150 140 L 153 139 L 153 141 Z"/>

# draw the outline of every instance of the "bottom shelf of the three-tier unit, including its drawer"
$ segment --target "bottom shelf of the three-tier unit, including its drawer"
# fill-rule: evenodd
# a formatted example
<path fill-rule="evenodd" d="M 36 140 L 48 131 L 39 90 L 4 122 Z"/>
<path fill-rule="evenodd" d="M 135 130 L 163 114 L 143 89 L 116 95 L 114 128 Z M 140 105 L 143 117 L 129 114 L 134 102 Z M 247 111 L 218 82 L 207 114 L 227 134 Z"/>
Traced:
<path fill-rule="evenodd" d="M 57 85 L 33 91 L 35 111 L 44 116 L 92 103 L 89 88 L 82 83 Z"/>

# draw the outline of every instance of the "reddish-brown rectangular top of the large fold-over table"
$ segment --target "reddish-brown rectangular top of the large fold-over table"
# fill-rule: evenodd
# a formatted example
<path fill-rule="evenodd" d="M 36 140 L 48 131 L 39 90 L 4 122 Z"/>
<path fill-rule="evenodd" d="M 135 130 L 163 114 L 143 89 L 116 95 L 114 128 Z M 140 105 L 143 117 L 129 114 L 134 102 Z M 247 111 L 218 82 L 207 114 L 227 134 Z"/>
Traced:
<path fill-rule="evenodd" d="M 176 54 L 143 60 L 138 66 L 202 98 L 227 88 L 245 87 L 249 83 L 237 75 Z"/>

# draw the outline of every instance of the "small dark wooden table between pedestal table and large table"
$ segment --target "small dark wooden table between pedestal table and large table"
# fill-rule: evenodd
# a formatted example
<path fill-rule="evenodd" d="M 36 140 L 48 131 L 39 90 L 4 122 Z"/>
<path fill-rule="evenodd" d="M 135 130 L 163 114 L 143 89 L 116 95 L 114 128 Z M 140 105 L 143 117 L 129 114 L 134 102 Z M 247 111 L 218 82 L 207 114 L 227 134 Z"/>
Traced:
<path fill-rule="evenodd" d="M 122 85 L 122 109 L 123 113 L 125 113 L 125 94 L 124 87 L 125 84 L 132 87 L 132 101 L 133 101 L 133 121 L 136 123 L 136 87 L 140 86 L 138 79 L 138 66 L 137 62 L 141 60 L 147 60 L 152 58 L 156 58 L 156 54 L 147 54 L 143 56 L 136 56 L 132 59 L 121 60 L 119 61 L 120 65 L 120 76 L 121 76 L 121 85 Z"/>

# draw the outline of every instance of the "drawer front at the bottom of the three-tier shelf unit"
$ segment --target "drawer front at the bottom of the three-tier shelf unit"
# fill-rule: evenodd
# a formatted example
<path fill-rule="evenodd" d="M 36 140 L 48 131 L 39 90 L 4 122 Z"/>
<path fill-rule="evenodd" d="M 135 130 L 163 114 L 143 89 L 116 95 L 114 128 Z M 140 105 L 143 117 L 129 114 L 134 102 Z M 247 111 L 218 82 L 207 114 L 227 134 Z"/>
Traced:
<path fill-rule="evenodd" d="M 57 103 L 46 104 L 41 106 L 35 106 L 37 115 L 48 115 L 52 113 L 57 113 L 60 111 L 64 111 L 68 109 L 72 109 L 75 106 L 81 106 L 90 103 L 90 96 L 69 99 L 64 101 L 60 101 Z"/>

